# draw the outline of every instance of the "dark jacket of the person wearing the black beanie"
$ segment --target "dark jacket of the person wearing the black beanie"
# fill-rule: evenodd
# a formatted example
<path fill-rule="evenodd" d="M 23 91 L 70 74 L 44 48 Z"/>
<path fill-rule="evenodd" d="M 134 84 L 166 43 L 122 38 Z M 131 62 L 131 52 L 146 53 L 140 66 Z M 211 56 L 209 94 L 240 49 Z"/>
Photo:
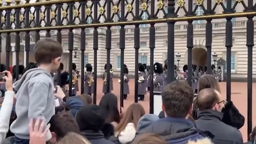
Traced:
<path fill-rule="evenodd" d="M 101 131 L 93 132 L 92 130 L 83 130 L 80 134 L 87 138 L 91 144 L 114 144 L 112 141 L 105 139 Z"/>

